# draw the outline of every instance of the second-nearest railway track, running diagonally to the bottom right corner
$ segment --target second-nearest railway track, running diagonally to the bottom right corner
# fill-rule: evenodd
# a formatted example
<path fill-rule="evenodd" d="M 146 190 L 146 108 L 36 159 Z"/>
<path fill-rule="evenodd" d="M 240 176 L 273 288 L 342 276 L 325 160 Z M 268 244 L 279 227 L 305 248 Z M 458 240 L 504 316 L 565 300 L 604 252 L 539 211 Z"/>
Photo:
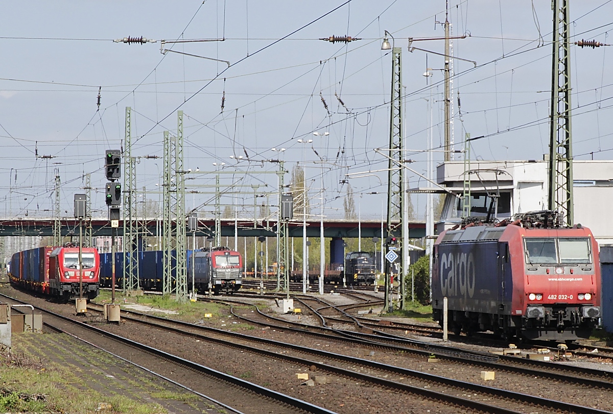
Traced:
<path fill-rule="evenodd" d="M 280 358 L 303 366 L 315 366 L 318 372 L 325 372 L 327 375 L 340 375 L 359 382 L 370 383 L 372 386 L 382 386 L 412 394 L 421 393 L 436 401 L 441 401 L 441 398 L 444 398 L 444 401 L 450 404 L 473 410 L 478 409 L 482 412 L 505 412 L 504 410 L 524 412 L 524 410 L 534 410 L 537 405 L 541 407 L 541 410 L 543 407 L 547 407 L 551 412 L 599 412 L 598 410 L 593 410 L 593 408 L 579 407 L 566 402 L 550 401 L 514 391 L 461 382 L 364 358 L 340 355 L 271 339 L 255 338 L 243 335 L 242 333 L 202 327 L 177 320 L 144 315 L 139 312 L 128 311 L 124 313 L 123 317 L 129 322 L 145 323 L 151 328 L 167 330 L 199 341 L 212 342 L 216 346 L 232 347 L 240 349 L 241 352 L 256 353 L 269 358 Z M 258 345 L 256 346 L 254 342 L 257 342 Z M 534 375 L 535 372 L 530 372 L 529 375 Z M 557 375 L 553 378 L 555 380 L 571 380 L 570 378 L 563 378 L 563 375 Z M 587 382 L 573 380 L 573 382 L 581 383 L 584 386 L 598 386 L 613 390 L 613 383 L 590 380 L 587 380 Z M 470 397 L 450 395 L 454 393 L 470 395 Z M 498 399 L 497 403 L 491 405 L 482 403 L 482 401 L 492 398 Z M 492 407 L 492 405 L 495 407 Z"/>

